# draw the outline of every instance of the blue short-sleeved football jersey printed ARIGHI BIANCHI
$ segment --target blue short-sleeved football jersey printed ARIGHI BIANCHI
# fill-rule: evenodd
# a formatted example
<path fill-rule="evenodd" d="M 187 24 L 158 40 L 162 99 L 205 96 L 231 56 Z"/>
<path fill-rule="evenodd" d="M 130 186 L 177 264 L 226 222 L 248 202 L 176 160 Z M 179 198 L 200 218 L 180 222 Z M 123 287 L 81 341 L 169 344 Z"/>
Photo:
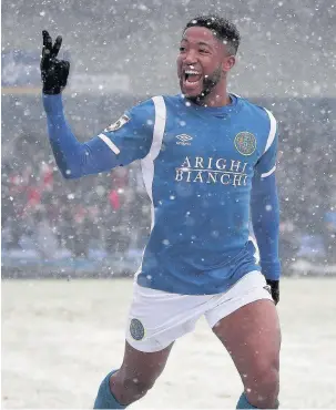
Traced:
<path fill-rule="evenodd" d="M 271 112 L 231 94 L 223 107 L 183 95 L 134 106 L 99 137 L 115 165 L 141 160 L 152 230 L 139 285 L 184 295 L 225 291 L 261 269 L 251 240 L 253 178 L 276 166 Z M 136 204 L 134 204 L 136 206 Z"/>

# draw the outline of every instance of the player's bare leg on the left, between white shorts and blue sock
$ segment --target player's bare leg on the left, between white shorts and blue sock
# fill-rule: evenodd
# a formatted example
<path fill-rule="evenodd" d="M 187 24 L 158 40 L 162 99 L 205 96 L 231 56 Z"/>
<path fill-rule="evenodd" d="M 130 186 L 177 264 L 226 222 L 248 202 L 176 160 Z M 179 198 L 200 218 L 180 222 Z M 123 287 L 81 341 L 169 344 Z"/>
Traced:
<path fill-rule="evenodd" d="M 162 373 L 172 345 L 163 350 L 143 352 L 125 341 L 121 368 L 112 375 L 110 387 L 115 399 L 122 404 L 130 404 L 141 399 Z"/>

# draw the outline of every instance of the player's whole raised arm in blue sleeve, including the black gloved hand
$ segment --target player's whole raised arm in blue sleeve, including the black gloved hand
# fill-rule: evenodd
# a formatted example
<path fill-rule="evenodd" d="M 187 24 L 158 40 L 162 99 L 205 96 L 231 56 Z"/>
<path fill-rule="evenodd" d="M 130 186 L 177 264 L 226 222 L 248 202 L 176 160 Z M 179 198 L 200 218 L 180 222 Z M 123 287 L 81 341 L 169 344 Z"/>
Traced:
<path fill-rule="evenodd" d="M 61 92 L 67 85 L 70 64 L 58 60 L 62 39 L 54 45 L 43 31 L 41 74 L 48 133 L 57 164 L 65 178 L 110 171 L 144 157 L 153 136 L 154 107 L 149 101 L 132 109 L 119 123 L 86 143 L 73 135 L 63 112 Z"/>

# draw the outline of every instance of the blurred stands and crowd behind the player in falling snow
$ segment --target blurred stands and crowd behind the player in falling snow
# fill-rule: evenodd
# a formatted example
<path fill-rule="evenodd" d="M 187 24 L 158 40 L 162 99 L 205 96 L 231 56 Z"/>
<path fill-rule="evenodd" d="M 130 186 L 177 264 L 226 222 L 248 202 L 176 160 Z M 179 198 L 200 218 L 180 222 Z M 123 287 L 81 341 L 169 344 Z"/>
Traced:
<path fill-rule="evenodd" d="M 41 105 L 41 31 L 71 61 L 65 112 L 78 139 L 133 104 L 177 93 L 185 23 L 232 19 L 242 34 L 230 90 L 279 123 L 284 275 L 336 275 L 336 6 L 333 0 L 2 2 L 2 276 L 132 275 L 149 235 L 139 165 L 63 181 Z"/>

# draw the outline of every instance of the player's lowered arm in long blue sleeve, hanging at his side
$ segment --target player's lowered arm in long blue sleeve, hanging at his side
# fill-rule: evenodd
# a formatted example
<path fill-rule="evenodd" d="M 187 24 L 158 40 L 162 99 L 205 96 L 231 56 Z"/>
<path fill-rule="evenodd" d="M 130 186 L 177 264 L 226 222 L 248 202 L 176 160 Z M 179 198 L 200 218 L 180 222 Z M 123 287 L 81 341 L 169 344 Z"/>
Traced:
<path fill-rule="evenodd" d="M 252 183 L 251 213 L 256 237 L 261 268 L 272 296 L 278 301 L 281 263 L 278 256 L 279 205 L 275 177 L 278 136 L 275 134 L 269 147 L 257 162 Z"/>

